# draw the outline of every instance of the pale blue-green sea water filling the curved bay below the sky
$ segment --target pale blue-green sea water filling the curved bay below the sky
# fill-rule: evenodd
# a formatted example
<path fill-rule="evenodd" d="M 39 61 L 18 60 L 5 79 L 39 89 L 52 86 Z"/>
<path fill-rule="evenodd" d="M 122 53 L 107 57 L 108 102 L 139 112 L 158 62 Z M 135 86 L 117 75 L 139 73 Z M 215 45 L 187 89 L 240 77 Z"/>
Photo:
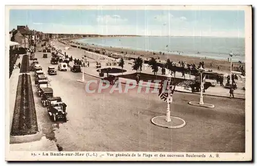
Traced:
<path fill-rule="evenodd" d="M 173 37 L 173 36 L 124 36 L 93 37 L 77 39 L 81 43 L 106 47 L 151 51 L 167 51 L 170 54 L 227 60 L 233 52 L 232 61 L 245 61 L 245 38 L 237 37 Z M 168 45 L 168 47 L 167 47 Z"/>

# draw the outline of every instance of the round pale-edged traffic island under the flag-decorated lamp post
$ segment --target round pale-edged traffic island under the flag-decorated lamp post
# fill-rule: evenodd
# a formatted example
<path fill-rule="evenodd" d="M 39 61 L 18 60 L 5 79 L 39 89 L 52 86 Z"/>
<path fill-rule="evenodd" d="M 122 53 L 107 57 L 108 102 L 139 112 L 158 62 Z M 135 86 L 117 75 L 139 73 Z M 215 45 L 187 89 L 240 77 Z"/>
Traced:
<path fill-rule="evenodd" d="M 156 116 L 152 118 L 152 123 L 156 126 L 168 129 L 179 129 L 186 126 L 186 121 L 175 116 L 171 116 L 171 121 L 166 121 L 167 116 Z"/>

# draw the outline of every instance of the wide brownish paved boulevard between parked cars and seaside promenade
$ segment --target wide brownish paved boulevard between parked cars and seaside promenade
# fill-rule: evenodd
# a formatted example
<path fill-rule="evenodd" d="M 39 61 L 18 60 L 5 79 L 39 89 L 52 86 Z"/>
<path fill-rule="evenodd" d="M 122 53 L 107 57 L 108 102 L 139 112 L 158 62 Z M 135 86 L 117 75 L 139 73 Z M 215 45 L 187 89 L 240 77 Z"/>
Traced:
<path fill-rule="evenodd" d="M 50 56 L 36 53 L 44 72 Z M 57 65 L 56 65 L 57 66 Z M 196 94 L 175 93 L 171 114 L 183 118 L 181 129 L 164 129 L 151 123 L 154 116 L 165 115 L 167 104 L 157 94 L 88 94 L 77 82 L 81 73 L 58 71 L 51 79 L 54 96 L 67 104 L 65 123 L 54 124 L 35 95 L 38 121 L 47 139 L 62 151 L 170 151 L 170 152 L 244 152 L 245 101 L 205 96 L 214 109 L 188 104 L 198 101 Z M 96 79 L 85 75 L 86 80 Z M 99 79 L 98 79 L 99 80 Z M 124 89 L 124 85 L 122 85 Z"/>

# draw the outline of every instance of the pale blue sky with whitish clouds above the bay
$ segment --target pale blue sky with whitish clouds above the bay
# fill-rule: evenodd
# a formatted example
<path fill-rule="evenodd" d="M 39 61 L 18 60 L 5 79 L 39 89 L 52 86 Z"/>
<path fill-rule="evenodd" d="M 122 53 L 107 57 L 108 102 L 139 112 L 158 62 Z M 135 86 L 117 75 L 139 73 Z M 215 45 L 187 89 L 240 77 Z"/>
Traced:
<path fill-rule="evenodd" d="M 44 33 L 244 37 L 244 11 L 11 10 L 17 25 Z"/>

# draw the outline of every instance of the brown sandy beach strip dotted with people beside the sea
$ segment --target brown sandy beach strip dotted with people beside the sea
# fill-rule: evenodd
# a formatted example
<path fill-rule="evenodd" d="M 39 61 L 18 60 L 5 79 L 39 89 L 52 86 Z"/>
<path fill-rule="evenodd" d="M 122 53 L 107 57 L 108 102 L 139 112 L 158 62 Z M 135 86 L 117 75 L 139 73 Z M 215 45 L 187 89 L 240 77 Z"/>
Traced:
<path fill-rule="evenodd" d="M 78 39 L 78 38 L 76 38 Z M 82 46 L 82 43 L 76 42 L 74 41 L 74 39 L 63 39 L 63 41 L 69 43 L 69 44 L 73 44 L 73 45 L 77 45 L 77 46 Z M 77 43 L 77 44 L 76 44 Z M 156 52 L 156 54 L 153 54 L 153 52 L 150 51 L 139 51 L 139 50 L 132 50 L 132 49 L 126 49 L 126 48 L 118 48 L 118 47 L 104 47 L 104 46 L 97 46 L 97 45 L 89 45 L 86 44 L 86 46 L 83 44 L 84 47 L 86 48 L 91 48 L 91 49 L 103 49 L 105 51 L 110 51 L 113 53 L 120 53 L 121 51 L 123 51 L 124 53 L 127 52 L 127 54 L 130 54 L 132 57 L 142 57 L 142 58 L 158 58 L 158 60 L 161 61 L 165 61 L 168 58 L 171 59 L 171 61 L 173 61 L 174 63 L 178 63 L 178 61 L 186 61 L 186 63 L 188 64 L 195 64 L 196 66 L 198 66 L 200 61 L 204 61 L 205 63 L 205 68 L 211 69 L 214 72 L 219 72 L 219 73 L 228 73 L 230 72 L 230 61 L 228 61 L 228 59 L 224 59 L 224 60 L 218 60 L 218 59 L 210 59 L 210 58 L 200 58 L 200 57 L 192 57 L 192 56 L 184 56 L 184 55 L 174 55 L 169 53 L 169 55 L 167 53 L 164 53 L 164 55 L 160 55 L 158 52 Z M 141 56 L 143 55 L 143 56 Z M 233 61 L 233 59 L 232 59 Z M 210 65 L 210 63 L 212 63 L 212 67 Z M 233 67 L 234 67 L 234 71 L 236 71 L 237 67 L 240 66 L 244 66 L 245 69 L 245 64 L 242 63 L 238 63 L 238 62 L 233 62 Z M 217 70 L 219 66 L 219 70 Z"/>

